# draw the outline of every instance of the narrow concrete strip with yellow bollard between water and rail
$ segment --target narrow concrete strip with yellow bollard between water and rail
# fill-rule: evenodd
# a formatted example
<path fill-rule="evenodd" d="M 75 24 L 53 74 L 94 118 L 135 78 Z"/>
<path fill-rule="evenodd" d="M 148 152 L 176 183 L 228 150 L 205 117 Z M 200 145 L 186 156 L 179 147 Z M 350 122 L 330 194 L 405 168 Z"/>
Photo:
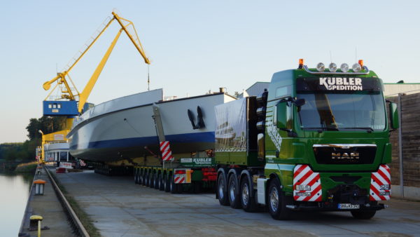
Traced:
<path fill-rule="evenodd" d="M 55 170 L 54 170 L 55 171 Z M 27 210 L 22 220 L 20 233 L 22 236 L 37 236 L 37 231 L 29 231 L 29 217 L 31 215 L 40 215 L 43 217 L 41 227 L 48 226 L 49 229 L 41 231 L 41 236 L 75 236 L 66 212 L 55 194 L 50 178 L 45 170 L 41 174 L 36 174 L 34 180 L 45 180 L 44 194 L 35 195 L 35 187 L 32 187 L 27 203 Z M 1 236 L 1 235 L 0 235 Z"/>

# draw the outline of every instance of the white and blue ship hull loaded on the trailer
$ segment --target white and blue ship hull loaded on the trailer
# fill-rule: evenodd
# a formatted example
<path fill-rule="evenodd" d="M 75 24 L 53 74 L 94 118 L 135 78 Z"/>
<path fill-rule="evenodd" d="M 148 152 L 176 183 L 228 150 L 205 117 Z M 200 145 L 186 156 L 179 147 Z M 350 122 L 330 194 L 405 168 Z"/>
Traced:
<path fill-rule="evenodd" d="M 153 100 L 148 96 L 148 102 Z M 144 156 L 160 155 L 159 139 L 153 119 L 153 105 L 158 107 L 165 140 L 172 153 L 185 154 L 214 149 L 214 106 L 235 100 L 224 93 L 189 97 L 179 100 L 144 104 L 129 103 L 129 107 L 112 109 L 100 104 L 95 113 L 83 114 L 69 133 L 70 154 L 87 161 L 110 162 Z M 158 101 L 158 100 L 157 100 Z M 113 104 L 127 104 L 113 100 Z M 188 109 L 193 111 L 197 123 L 197 107 L 202 110 L 204 128 L 193 128 Z M 111 109 L 110 109 L 111 108 Z M 98 112 L 99 111 L 99 112 Z M 87 111 L 88 113 L 89 111 Z"/>

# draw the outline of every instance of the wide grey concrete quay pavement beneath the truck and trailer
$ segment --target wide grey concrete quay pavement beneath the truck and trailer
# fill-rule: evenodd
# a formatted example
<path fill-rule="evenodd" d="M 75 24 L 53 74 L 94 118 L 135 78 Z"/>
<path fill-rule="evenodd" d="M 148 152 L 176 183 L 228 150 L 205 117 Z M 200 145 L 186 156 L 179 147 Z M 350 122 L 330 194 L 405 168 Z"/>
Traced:
<path fill-rule="evenodd" d="M 214 194 L 168 194 L 131 177 L 56 174 L 102 236 L 420 236 L 420 202 L 393 199 L 370 220 L 350 212 L 297 212 L 277 221 L 219 205 Z"/>

